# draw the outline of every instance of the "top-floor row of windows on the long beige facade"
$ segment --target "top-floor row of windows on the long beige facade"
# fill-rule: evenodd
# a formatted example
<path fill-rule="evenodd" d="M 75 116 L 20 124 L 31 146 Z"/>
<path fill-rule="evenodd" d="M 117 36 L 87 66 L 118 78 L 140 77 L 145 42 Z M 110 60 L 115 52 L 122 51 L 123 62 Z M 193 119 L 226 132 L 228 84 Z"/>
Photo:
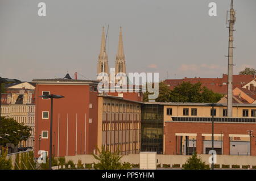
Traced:
<path fill-rule="evenodd" d="M 135 104 L 103 103 L 103 112 L 134 112 L 139 113 L 140 107 Z"/>

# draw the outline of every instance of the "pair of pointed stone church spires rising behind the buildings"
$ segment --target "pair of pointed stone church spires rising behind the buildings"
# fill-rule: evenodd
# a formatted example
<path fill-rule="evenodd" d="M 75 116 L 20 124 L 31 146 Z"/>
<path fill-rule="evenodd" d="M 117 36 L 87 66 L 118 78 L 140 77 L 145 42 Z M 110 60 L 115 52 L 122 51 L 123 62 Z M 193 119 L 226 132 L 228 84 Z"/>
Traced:
<path fill-rule="evenodd" d="M 126 73 L 125 65 L 125 54 L 123 53 L 123 38 L 122 38 L 122 27 L 119 30 L 119 42 L 117 55 L 115 57 L 115 74 Z M 106 38 L 105 30 L 102 28 L 102 37 L 101 37 L 101 50 L 98 56 L 98 68 L 97 75 L 100 75 L 102 72 L 109 75 L 109 66 L 108 66 L 108 55 L 106 54 Z"/>

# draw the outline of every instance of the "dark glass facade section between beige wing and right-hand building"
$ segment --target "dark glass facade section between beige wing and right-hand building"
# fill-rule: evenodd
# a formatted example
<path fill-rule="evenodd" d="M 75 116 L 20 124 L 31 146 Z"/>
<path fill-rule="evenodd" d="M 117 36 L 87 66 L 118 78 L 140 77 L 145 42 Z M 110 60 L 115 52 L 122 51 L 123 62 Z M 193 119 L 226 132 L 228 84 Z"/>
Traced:
<path fill-rule="evenodd" d="M 163 106 L 142 105 L 141 151 L 156 151 L 163 154 Z"/>

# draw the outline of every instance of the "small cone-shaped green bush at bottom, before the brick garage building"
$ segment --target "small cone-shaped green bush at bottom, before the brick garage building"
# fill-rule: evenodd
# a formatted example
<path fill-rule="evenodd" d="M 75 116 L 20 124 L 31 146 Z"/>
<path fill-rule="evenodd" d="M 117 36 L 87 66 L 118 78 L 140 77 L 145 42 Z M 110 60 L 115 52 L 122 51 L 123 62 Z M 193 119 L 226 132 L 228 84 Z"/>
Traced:
<path fill-rule="evenodd" d="M 201 157 L 197 157 L 197 153 L 194 152 L 192 157 L 187 159 L 183 166 L 184 170 L 208 170 L 208 166 L 202 161 Z"/>

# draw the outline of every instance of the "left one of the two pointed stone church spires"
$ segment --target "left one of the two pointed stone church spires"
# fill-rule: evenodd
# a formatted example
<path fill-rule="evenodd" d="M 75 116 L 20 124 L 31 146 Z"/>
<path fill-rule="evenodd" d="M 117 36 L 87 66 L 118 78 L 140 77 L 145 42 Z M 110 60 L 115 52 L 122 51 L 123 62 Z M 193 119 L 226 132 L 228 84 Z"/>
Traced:
<path fill-rule="evenodd" d="M 108 65 L 108 55 L 106 54 L 106 40 L 105 40 L 105 30 L 102 28 L 102 36 L 101 36 L 101 50 L 98 55 L 98 68 L 97 75 L 104 72 L 105 74 L 109 74 L 109 65 Z"/>

